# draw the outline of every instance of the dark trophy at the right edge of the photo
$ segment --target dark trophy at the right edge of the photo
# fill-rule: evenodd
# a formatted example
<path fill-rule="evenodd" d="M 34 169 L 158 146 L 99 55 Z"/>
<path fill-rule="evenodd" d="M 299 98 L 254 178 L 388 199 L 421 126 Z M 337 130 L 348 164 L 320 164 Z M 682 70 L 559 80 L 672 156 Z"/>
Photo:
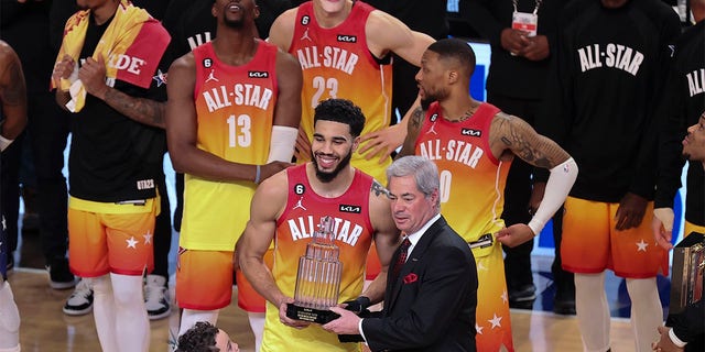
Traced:
<path fill-rule="evenodd" d="M 702 299 L 704 268 L 705 238 L 691 232 L 673 248 L 669 314 L 681 312 L 685 306 Z"/>

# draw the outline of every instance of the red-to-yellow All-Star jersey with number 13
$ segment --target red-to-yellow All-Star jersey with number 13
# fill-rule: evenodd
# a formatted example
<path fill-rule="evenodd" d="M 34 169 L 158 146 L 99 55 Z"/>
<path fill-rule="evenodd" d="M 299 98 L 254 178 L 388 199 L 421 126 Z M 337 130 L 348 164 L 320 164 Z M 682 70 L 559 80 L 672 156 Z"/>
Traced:
<path fill-rule="evenodd" d="M 197 146 L 229 162 L 265 164 L 276 105 L 276 47 L 258 41 L 242 66 L 221 63 L 212 43 L 194 51 Z M 185 175 L 182 248 L 232 251 L 249 220 L 256 185 Z"/>

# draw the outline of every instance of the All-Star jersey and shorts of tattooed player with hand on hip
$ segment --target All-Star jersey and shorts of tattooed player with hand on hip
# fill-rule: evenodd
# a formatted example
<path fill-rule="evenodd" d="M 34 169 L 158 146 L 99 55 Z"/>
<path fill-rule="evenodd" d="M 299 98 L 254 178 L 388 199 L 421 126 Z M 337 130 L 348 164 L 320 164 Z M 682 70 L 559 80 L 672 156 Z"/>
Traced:
<path fill-rule="evenodd" d="M 500 218 L 505 204 L 505 185 L 511 162 L 498 161 L 489 147 L 489 129 L 499 109 L 482 103 L 467 120 L 452 122 L 443 118 L 434 102 L 416 139 L 415 154 L 432 160 L 441 176 L 441 213 L 465 239 L 476 242 L 482 234 L 505 227 Z M 499 242 L 473 249 L 479 287 L 476 321 L 478 351 L 513 351 L 507 283 L 503 277 L 502 250 Z M 489 270 L 489 271 L 488 271 Z M 501 320 L 501 324 L 495 321 Z"/>

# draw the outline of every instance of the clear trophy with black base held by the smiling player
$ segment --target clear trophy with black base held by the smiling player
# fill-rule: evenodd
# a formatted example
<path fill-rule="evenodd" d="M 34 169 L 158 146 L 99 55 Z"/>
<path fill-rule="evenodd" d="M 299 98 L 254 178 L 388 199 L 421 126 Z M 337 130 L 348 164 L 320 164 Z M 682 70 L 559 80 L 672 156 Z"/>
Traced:
<path fill-rule="evenodd" d="M 286 317 L 316 323 L 338 318 L 329 308 L 338 305 L 343 263 L 335 245 L 333 218 L 321 218 L 306 253 L 299 260 L 294 302 L 286 305 Z"/>

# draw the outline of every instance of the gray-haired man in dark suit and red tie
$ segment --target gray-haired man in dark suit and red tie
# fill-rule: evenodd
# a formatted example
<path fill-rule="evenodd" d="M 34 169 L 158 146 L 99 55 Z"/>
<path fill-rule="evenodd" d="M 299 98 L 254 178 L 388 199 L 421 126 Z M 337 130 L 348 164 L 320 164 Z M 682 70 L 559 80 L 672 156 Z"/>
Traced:
<path fill-rule="evenodd" d="M 440 213 L 438 169 L 425 157 L 405 156 L 387 177 L 394 223 L 405 239 L 387 275 L 355 301 L 364 308 L 383 298 L 384 309 L 380 318 L 361 319 L 333 307 L 340 318 L 323 328 L 359 333 L 372 351 L 476 351 L 475 258 Z"/>

